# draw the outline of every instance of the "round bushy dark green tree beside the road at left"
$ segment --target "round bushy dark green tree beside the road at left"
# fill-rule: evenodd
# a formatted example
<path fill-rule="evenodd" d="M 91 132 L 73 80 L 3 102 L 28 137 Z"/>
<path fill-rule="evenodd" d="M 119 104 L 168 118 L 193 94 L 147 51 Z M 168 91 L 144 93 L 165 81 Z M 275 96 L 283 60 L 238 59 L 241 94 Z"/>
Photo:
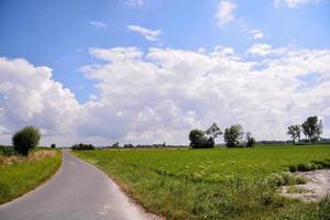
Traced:
<path fill-rule="evenodd" d="M 29 155 L 29 151 L 34 148 L 41 139 L 38 129 L 34 127 L 25 127 L 12 136 L 14 150 L 23 156 Z"/>

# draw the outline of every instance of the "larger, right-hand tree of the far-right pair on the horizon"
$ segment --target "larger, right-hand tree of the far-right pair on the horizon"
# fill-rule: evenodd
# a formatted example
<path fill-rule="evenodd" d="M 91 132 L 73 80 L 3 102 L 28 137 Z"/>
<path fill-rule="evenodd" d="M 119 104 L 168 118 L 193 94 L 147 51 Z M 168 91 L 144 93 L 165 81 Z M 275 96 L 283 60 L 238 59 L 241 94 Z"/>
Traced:
<path fill-rule="evenodd" d="M 318 120 L 318 117 L 309 117 L 302 124 L 302 132 L 306 138 L 315 143 L 320 139 L 322 133 L 322 120 Z"/>

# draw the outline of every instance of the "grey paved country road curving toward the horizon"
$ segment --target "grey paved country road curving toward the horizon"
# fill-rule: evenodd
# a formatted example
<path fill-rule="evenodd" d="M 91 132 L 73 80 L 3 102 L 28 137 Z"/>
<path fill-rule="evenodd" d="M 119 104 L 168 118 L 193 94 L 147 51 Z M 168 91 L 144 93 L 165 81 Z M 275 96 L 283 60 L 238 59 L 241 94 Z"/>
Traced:
<path fill-rule="evenodd" d="M 98 168 L 64 153 L 44 185 L 0 206 L 1 220 L 154 220 Z"/>

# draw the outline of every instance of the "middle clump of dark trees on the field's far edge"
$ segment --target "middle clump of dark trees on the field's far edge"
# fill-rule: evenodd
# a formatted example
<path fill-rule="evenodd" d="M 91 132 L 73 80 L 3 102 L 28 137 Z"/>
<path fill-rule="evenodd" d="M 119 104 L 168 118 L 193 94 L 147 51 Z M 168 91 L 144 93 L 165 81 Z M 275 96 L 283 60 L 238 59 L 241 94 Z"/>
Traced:
<path fill-rule="evenodd" d="M 221 129 L 217 125 L 217 123 L 213 123 L 206 131 L 198 129 L 190 131 L 190 146 L 193 148 L 212 148 L 215 147 L 215 140 L 222 134 L 226 145 L 228 147 L 252 147 L 255 144 L 255 140 L 252 136 L 251 132 L 244 133 L 244 130 L 241 124 L 233 124 L 227 128 L 223 133 Z"/>

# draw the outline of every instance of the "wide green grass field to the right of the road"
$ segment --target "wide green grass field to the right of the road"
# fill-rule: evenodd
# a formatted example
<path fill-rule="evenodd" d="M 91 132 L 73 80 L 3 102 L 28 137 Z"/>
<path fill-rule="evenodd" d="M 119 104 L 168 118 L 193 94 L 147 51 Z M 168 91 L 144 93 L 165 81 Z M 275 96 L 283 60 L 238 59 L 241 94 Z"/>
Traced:
<path fill-rule="evenodd" d="M 312 161 L 329 165 L 329 145 L 75 154 L 167 219 L 330 219 L 329 198 L 302 204 L 278 196 L 279 185 L 288 183 L 282 183 L 283 172 Z"/>

